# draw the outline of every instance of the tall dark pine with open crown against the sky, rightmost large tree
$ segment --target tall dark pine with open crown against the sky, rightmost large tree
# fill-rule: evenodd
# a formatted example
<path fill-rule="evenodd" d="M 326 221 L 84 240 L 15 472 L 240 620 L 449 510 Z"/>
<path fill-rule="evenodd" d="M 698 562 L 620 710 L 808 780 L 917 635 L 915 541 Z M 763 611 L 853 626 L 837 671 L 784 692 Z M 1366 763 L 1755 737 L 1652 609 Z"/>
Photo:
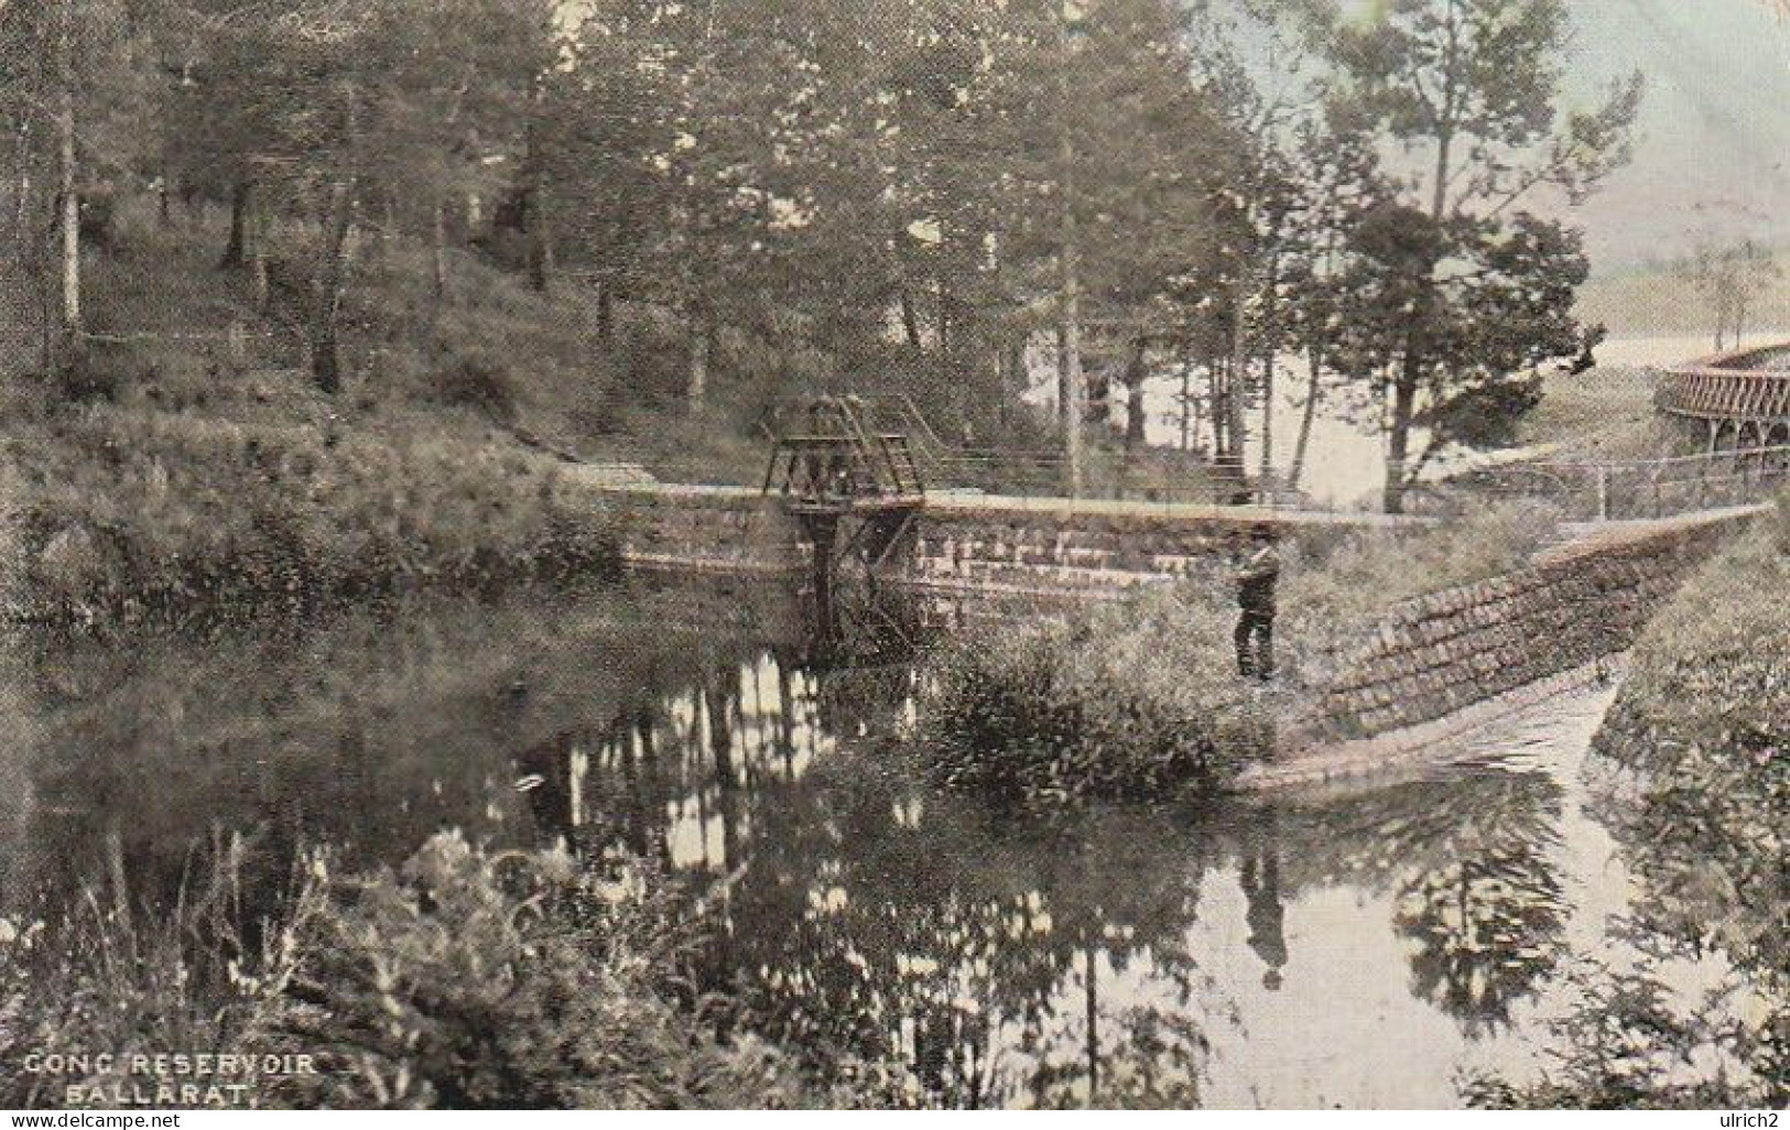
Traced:
<path fill-rule="evenodd" d="M 1641 79 L 1618 82 L 1593 111 L 1561 115 L 1556 104 L 1568 36 L 1564 0 L 1391 0 L 1366 23 L 1339 25 L 1332 39 L 1341 75 L 1337 113 L 1380 133 L 1402 181 L 1396 197 L 1369 215 L 1360 244 L 1362 270 L 1400 301 L 1398 324 L 1385 328 L 1391 340 L 1362 353 L 1382 362 L 1377 372 L 1384 380 L 1357 372 L 1391 399 L 1391 512 L 1403 509 L 1416 469 L 1448 439 L 1437 432 L 1425 457 L 1412 462 L 1419 399 L 1427 396 L 1441 415 L 1457 392 L 1520 376 L 1500 372 L 1507 355 L 1462 349 L 1471 337 L 1462 319 L 1493 301 L 1479 292 L 1475 261 L 1484 265 L 1502 254 L 1500 247 L 1570 242 L 1563 226 L 1525 217 L 1518 206 L 1541 192 L 1579 202 L 1627 161 Z M 1393 231 L 1394 220 L 1400 231 Z M 1568 281 L 1573 274 L 1582 281 L 1572 254 L 1541 254 L 1522 265 L 1563 269 Z M 1559 281 L 1502 276 L 1489 285 L 1563 297 L 1570 306 L 1572 287 L 1561 292 Z M 1539 337 L 1520 360 L 1577 349 L 1556 333 L 1570 324 L 1564 308 L 1532 313 Z"/>

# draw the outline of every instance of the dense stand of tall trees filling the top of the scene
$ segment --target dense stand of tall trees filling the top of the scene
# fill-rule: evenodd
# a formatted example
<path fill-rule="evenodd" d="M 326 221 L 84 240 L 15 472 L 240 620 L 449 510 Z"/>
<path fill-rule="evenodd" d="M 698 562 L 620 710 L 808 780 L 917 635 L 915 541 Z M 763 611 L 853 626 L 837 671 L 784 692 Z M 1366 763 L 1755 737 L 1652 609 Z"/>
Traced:
<path fill-rule="evenodd" d="M 952 439 L 986 442 L 1031 415 L 1056 346 L 1072 485 L 1083 423 L 1138 446 L 1144 381 L 1174 367 L 1187 444 L 1239 473 L 1296 351 L 1314 389 L 1384 408 L 1362 419 L 1387 421 L 1396 505 L 1436 449 L 1487 439 L 1459 426 L 1484 417 L 1466 408 L 1522 412 L 1523 374 L 1577 351 L 1584 258 L 1532 201 L 1622 163 L 1640 88 L 1559 109 L 1561 0 L 1355 16 L 1323 0 L 13 4 L 7 270 L 45 299 L 43 337 L 79 349 L 109 304 L 93 260 L 129 253 L 113 220 L 152 201 L 217 242 L 238 312 L 286 326 L 338 396 L 388 380 L 372 346 L 410 313 L 367 301 L 369 263 L 408 254 L 433 328 L 455 321 L 456 263 L 478 260 L 589 295 L 601 353 L 652 351 L 669 401 L 746 407 L 746 426 L 775 399 L 752 389 L 768 372 L 777 396 L 918 392 Z M 227 224 L 195 224 L 208 210 Z M 492 401 L 478 372 L 435 376 Z M 1436 442 L 1407 451 L 1421 424 Z"/>

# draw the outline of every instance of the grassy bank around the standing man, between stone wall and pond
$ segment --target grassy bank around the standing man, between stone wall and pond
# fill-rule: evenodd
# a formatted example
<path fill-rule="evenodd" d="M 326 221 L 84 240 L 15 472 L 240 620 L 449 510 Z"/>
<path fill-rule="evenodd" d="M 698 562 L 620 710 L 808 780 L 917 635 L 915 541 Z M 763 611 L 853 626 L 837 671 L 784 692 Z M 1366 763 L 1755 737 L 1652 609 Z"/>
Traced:
<path fill-rule="evenodd" d="M 1523 568 L 1554 528 L 1548 507 L 1502 505 L 1283 544 L 1269 697 L 1237 673 L 1223 577 L 974 634 L 931 661 L 918 749 L 936 781 L 1004 802 L 1223 792 L 1387 609 Z"/>

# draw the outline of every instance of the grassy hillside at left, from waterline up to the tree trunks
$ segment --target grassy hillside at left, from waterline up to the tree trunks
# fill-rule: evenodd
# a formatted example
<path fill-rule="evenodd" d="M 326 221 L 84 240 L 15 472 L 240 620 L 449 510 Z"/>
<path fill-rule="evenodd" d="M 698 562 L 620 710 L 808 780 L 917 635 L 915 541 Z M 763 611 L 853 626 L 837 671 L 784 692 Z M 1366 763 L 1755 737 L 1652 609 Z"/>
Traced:
<path fill-rule="evenodd" d="M 569 299 L 467 261 L 431 303 L 413 253 L 369 253 L 349 380 L 326 396 L 283 292 L 263 304 L 218 270 L 213 227 L 125 215 L 86 263 L 79 351 L 0 365 L 11 618 L 285 611 L 616 566 L 616 530 L 564 503 L 550 453 L 607 419 L 619 380 L 592 371 Z"/>

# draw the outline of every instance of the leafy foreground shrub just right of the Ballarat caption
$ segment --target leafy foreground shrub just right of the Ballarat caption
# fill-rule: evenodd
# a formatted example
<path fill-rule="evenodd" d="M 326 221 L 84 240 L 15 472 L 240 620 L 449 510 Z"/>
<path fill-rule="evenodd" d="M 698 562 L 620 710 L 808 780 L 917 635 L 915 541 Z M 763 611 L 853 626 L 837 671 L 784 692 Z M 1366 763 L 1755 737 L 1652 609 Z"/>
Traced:
<path fill-rule="evenodd" d="M 458 835 L 344 885 L 313 920 L 290 1028 L 324 1048 L 304 1107 L 788 1107 L 768 1046 L 720 1044 L 666 996 L 673 904 L 652 872 Z"/>

